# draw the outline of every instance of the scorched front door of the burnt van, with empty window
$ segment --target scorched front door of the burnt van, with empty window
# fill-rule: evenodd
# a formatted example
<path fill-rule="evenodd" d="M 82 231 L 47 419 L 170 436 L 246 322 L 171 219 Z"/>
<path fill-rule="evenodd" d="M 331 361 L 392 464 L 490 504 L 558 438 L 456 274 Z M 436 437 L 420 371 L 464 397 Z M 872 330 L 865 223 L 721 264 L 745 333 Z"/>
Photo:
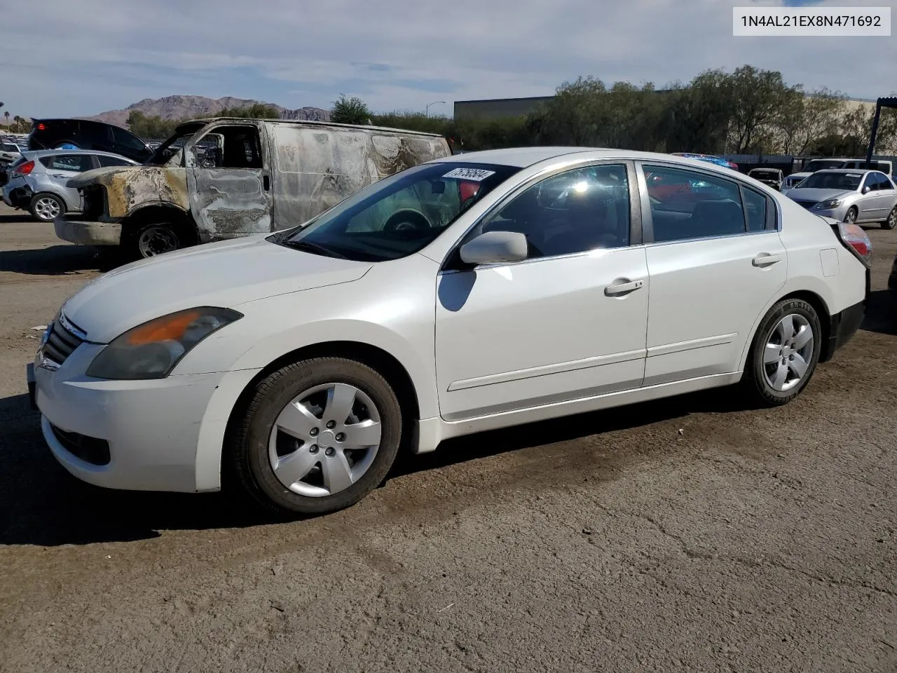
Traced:
<path fill-rule="evenodd" d="M 204 241 L 271 231 L 272 175 L 257 127 L 213 127 L 186 152 L 190 212 Z"/>

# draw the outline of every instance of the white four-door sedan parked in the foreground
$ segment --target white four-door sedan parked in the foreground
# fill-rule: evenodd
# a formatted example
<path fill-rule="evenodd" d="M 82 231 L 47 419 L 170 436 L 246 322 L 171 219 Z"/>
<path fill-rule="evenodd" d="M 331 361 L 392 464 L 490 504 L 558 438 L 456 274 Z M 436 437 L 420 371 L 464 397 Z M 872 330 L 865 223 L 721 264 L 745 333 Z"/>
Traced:
<path fill-rule="evenodd" d="M 858 329 L 869 254 L 856 225 L 707 162 L 453 155 L 101 276 L 31 390 L 91 484 L 334 511 L 449 437 L 732 384 L 784 404 Z"/>

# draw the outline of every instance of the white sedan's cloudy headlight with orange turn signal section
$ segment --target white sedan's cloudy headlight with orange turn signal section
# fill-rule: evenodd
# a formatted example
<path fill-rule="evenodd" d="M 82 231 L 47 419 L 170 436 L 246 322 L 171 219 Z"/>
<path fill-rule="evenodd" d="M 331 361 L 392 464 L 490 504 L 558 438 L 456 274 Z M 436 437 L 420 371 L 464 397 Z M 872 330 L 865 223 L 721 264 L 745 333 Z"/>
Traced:
<path fill-rule="evenodd" d="M 164 379 L 196 344 L 242 317 L 235 310 L 203 306 L 144 322 L 103 348 L 87 375 L 114 380 Z"/>

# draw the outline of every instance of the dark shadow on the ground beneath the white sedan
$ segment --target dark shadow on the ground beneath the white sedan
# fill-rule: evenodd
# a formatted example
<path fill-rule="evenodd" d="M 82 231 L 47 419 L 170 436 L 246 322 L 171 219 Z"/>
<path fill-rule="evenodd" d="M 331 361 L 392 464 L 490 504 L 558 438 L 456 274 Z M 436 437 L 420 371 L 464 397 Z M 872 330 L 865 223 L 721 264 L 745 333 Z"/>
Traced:
<path fill-rule="evenodd" d="M 446 441 L 405 456 L 388 478 L 508 451 L 636 428 L 701 412 L 744 410 L 735 396 L 695 393 Z M 274 519 L 233 491 L 168 494 L 101 489 L 69 475 L 50 454 L 27 395 L 0 399 L 0 545 L 85 545 L 157 538 L 161 530 L 246 528 Z"/>

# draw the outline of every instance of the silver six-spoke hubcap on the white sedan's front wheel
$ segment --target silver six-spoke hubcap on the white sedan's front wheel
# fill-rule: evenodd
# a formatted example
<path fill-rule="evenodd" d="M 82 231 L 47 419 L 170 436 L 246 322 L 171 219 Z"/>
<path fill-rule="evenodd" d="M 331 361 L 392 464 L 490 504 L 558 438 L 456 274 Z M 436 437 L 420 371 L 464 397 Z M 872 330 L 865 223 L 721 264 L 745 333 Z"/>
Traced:
<path fill-rule="evenodd" d="M 283 407 L 268 439 L 268 460 L 293 493 L 333 495 L 368 471 L 380 433 L 377 406 L 365 393 L 347 383 L 326 383 Z"/>

